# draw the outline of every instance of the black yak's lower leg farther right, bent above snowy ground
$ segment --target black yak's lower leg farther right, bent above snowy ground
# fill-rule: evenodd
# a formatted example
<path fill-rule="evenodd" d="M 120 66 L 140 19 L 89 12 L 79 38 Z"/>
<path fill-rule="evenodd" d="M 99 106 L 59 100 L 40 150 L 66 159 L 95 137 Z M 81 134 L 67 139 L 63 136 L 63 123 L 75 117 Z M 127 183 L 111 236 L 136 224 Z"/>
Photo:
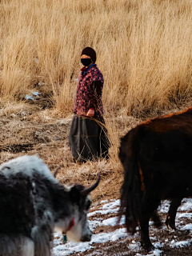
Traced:
<path fill-rule="evenodd" d="M 168 215 L 166 217 L 166 226 L 169 229 L 172 228 L 173 230 L 176 230 L 175 227 L 175 217 L 177 214 L 178 206 L 181 205 L 182 198 L 174 198 L 170 202 L 170 210 L 168 212 Z"/>

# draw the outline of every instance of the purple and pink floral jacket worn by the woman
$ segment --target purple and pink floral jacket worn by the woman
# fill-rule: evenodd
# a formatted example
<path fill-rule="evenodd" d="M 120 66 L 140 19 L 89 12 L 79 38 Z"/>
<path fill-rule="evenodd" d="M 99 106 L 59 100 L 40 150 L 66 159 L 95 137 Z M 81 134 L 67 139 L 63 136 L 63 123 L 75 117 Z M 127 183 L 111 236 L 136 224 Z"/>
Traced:
<path fill-rule="evenodd" d="M 103 114 L 102 87 L 103 76 L 96 64 L 88 69 L 82 68 L 78 78 L 78 90 L 74 102 L 74 114 L 86 116 L 94 109 L 94 118 L 99 119 Z"/>

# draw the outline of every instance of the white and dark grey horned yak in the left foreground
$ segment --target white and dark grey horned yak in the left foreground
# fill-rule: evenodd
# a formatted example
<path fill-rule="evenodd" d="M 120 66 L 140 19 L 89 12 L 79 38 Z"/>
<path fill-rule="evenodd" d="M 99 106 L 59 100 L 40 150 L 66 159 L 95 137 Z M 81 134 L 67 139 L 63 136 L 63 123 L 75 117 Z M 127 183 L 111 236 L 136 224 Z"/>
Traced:
<path fill-rule="evenodd" d="M 54 229 L 74 241 L 90 241 L 87 222 L 90 191 L 63 186 L 36 156 L 22 156 L 0 166 L 0 255 L 50 256 Z M 69 230 L 74 218 L 74 226 Z"/>

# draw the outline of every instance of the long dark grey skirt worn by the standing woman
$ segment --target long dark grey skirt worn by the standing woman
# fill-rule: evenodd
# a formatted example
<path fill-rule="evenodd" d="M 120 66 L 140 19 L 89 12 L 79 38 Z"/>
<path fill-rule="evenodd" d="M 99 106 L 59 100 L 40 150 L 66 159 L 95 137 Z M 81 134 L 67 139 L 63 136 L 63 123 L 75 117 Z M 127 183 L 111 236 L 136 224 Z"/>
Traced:
<path fill-rule="evenodd" d="M 98 158 L 109 158 L 110 142 L 102 122 L 95 119 L 74 116 L 70 127 L 70 150 L 79 162 Z"/>

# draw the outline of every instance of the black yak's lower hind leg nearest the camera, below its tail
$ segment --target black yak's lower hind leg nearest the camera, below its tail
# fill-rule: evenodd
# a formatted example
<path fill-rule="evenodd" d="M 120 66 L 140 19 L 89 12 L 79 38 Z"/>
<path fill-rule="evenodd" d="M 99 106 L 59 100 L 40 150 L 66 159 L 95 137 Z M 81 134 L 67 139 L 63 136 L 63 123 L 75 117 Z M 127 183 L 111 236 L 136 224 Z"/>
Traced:
<path fill-rule="evenodd" d="M 142 216 L 140 219 L 142 247 L 144 249 L 150 249 L 153 247 L 149 235 L 150 214 L 143 214 Z"/>

